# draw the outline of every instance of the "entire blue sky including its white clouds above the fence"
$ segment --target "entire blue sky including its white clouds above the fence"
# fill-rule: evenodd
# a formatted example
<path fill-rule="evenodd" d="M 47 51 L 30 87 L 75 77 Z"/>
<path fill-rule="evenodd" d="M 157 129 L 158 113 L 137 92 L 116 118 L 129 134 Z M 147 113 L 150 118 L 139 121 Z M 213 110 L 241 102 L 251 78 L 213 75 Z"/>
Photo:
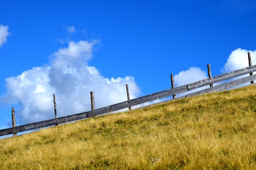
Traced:
<path fill-rule="evenodd" d="M 53 93 L 66 115 L 90 110 L 90 90 L 97 108 L 125 100 L 126 83 L 137 97 L 169 89 L 171 73 L 178 86 L 208 63 L 214 76 L 247 51 L 256 62 L 255 16 L 255 0 L 1 1 L 0 128 L 11 107 L 18 124 L 52 118 Z"/>

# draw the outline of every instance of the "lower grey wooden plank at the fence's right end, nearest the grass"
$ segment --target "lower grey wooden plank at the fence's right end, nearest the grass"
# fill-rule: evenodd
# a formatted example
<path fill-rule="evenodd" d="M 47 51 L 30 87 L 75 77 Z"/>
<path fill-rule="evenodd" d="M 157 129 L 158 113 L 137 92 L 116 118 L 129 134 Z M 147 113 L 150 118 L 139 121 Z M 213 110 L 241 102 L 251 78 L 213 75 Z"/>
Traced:
<path fill-rule="evenodd" d="M 207 93 L 214 92 L 214 91 L 223 91 L 225 89 L 231 88 L 233 86 L 238 86 L 240 84 L 245 84 L 245 83 L 247 83 L 249 81 L 252 81 L 252 80 L 255 80 L 255 79 L 256 79 L 255 75 L 252 75 L 250 77 L 243 77 L 242 79 L 236 79 L 236 80 L 233 80 L 233 81 L 229 81 L 225 84 L 220 84 L 218 86 L 214 86 L 214 87 L 209 88 L 209 89 L 203 89 L 201 91 L 196 91 L 192 94 L 187 94 L 186 97 L 198 96 L 198 95 L 201 95 L 201 94 L 207 94 Z"/>

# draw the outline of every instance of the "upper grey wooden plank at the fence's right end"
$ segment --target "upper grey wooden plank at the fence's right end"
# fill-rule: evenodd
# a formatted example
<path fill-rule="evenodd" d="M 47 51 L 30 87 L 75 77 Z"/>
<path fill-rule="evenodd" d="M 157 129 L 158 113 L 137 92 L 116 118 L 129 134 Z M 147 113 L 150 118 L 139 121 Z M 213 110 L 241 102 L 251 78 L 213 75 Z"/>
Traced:
<path fill-rule="evenodd" d="M 212 77 L 212 79 L 203 79 L 201 81 L 196 81 L 194 83 L 187 84 L 188 91 L 191 91 L 193 89 L 198 89 L 202 86 L 207 86 L 209 84 L 214 84 L 214 83 L 217 83 L 220 81 L 224 81 L 226 79 L 232 79 L 234 77 L 239 77 L 244 74 L 248 74 L 250 72 L 256 72 L 256 65 L 252 65 L 250 67 L 245 67 L 243 69 L 238 69 L 233 72 L 226 73 L 226 74 L 221 74 L 219 76 Z"/>

